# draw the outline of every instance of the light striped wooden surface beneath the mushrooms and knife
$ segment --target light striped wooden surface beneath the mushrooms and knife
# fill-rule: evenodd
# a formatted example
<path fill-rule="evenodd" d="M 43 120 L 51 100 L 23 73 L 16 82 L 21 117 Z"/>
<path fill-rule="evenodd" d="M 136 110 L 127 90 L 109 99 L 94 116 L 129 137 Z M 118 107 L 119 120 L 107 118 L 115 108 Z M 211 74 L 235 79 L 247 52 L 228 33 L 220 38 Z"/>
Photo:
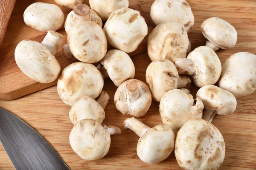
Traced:
<path fill-rule="evenodd" d="M 154 0 L 139 1 L 143 11 L 149 17 L 150 6 Z M 24 6 L 28 6 L 32 2 L 34 1 L 17 1 L 15 10 L 18 13 L 19 10 L 25 9 Z M 246 51 L 256 54 L 256 0 L 188 0 L 188 3 L 195 15 L 195 25 L 189 34 L 192 48 L 204 45 L 206 41 L 200 31 L 201 23 L 209 17 L 221 17 L 230 22 L 238 32 L 238 42 L 234 48 L 217 51 L 221 62 L 223 63 L 227 57 L 236 52 Z M 22 9 L 19 9 L 19 6 Z M 15 11 L 13 15 L 21 18 Z M 16 25 L 11 23 L 9 28 L 18 27 L 19 22 L 21 23 L 23 20 L 17 20 Z M 34 31 L 29 27 L 26 30 Z M 22 40 L 22 37 L 17 37 L 20 34 L 26 37 L 25 30 L 18 30 L 17 33 L 8 31 L 7 38 L 10 41 L 5 42 L 5 47 L 1 49 L 6 50 L 12 45 L 12 41 L 17 41 L 17 38 Z M 145 82 L 145 70 L 150 64 L 148 55 L 146 53 L 139 54 L 132 57 L 132 60 L 136 68 L 135 78 Z M 1 63 L 0 68 L 3 66 Z M 111 136 L 109 153 L 98 161 L 84 161 L 71 149 L 69 133 L 73 125 L 68 117 L 70 107 L 61 101 L 56 86 L 13 101 L 0 101 L 0 107 L 11 111 L 35 128 L 72 170 L 180 170 L 174 153 L 165 161 L 155 165 L 140 161 L 136 153 L 139 137 L 123 128 L 122 122 L 127 117 L 115 108 L 113 96 L 116 87 L 110 79 L 105 79 L 104 90 L 110 94 L 110 101 L 105 109 L 106 118 L 103 123 L 120 127 L 122 134 Z M 192 87 L 193 96 L 197 90 Z M 226 157 L 220 170 L 256 169 L 256 92 L 238 99 L 237 102 L 235 113 L 229 116 L 217 115 L 212 121 L 212 124 L 221 131 L 226 144 Z M 152 102 L 148 113 L 140 120 L 150 127 L 161 124 L 158 105 L 159 103 Z M 12 163 L 0 145 L 0 170 L 12 169 L 14 169 Z"/>

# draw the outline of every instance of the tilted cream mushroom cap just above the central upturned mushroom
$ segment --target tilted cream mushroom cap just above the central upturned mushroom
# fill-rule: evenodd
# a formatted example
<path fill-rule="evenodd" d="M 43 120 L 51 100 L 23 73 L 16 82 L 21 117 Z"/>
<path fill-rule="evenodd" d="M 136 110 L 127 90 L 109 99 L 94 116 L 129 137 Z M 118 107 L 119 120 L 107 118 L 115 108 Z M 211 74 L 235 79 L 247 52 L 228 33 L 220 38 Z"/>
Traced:
<path fill-rule="evenodd" d="M 109 78 L 117 87 L 135 76 L 134 63 L 128 54 L 121 50 L 108 51 L 100 63 L 104 65 Z"/>

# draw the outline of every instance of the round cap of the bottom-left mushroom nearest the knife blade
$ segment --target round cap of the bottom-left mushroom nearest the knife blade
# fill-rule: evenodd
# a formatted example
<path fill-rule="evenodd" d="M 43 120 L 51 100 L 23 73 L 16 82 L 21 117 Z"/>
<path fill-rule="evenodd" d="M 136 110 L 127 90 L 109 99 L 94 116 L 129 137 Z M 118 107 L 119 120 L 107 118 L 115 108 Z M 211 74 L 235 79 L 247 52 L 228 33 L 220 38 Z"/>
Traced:
<path fill-rule="evenodd" d="M 84 160 L 98 160 L 103 158 L 109 150 L 110 134 L 102 125 L 90 119 L 77 122 L 70 132 L 72 149 Z"/>

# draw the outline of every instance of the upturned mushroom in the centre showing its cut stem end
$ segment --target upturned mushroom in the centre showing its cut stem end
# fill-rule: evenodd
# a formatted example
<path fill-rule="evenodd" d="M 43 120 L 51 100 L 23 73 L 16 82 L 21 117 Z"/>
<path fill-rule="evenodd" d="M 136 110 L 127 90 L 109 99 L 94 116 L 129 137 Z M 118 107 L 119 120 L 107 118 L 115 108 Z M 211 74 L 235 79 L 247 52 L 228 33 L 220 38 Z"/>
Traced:
<path fill-rule="evenodd" d="M 119 85 L 114 101 L 116 109 L 123 115 L 140 117 L 147 113 L 152 97 L 144 82 L 130 79 Z"/>

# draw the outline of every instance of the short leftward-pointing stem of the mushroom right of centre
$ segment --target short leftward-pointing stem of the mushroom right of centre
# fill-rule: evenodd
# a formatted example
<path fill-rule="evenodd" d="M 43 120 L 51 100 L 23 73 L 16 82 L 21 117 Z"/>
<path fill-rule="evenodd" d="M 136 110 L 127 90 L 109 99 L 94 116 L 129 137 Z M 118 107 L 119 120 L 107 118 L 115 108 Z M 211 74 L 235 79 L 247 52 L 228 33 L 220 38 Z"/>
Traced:
<path fill-rule="evenodd" d="M 175 58 L 175 66 L 179 74 L 195 75 L 195 62 L 187 58 Z"/>

